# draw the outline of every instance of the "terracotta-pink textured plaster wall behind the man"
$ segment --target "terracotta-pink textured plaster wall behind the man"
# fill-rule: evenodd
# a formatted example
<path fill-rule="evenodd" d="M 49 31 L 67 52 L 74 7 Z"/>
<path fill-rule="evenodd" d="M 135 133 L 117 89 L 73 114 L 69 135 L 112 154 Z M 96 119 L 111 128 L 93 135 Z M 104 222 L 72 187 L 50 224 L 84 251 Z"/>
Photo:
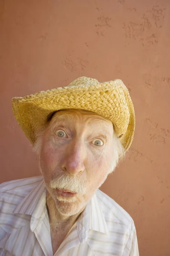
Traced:
<path fill-rule="evenodd" d="M 170 256 L 170 1 L 1 0 L 0 73 L 0 182 L 39 173 L 13 96 L 125 82 L 136 133 L 102 190 L 133 217 L 141 256 Z"/>

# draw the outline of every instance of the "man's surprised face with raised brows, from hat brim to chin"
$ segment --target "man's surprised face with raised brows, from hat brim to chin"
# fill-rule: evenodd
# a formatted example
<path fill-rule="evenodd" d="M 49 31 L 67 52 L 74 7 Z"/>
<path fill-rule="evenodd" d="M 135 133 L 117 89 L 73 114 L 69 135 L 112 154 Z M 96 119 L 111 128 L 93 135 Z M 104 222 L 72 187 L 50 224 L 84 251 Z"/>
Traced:
<path fill-rule="evenodd" d="M 64 110 L 42 137 L 40 169 L 62 215 L 77 214 L 112 171 L 113 124 L 90 111 Z"/>

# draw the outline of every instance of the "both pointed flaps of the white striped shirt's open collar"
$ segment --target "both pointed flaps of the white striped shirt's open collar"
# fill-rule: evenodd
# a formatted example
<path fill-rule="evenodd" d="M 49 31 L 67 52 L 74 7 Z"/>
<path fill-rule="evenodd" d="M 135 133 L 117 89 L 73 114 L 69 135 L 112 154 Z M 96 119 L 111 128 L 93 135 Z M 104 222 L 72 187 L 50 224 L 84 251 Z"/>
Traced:
<path fill-rule="evenodd" d="M 46 213 L 46 189 L 42 177 L 40 183 L 28 193 L 21 203 L 14 209 L 13 213 L 28 214 L 31 216 L 31 230 L 33 231 L 38 223 L 44 218 Z M 89 230 L 108 234 L 102 209 L 96 194 L 91 198 L 77 221 L 77 230 L 82 240 Z M 81 240 L 81 239 L 80 239 Z"/>

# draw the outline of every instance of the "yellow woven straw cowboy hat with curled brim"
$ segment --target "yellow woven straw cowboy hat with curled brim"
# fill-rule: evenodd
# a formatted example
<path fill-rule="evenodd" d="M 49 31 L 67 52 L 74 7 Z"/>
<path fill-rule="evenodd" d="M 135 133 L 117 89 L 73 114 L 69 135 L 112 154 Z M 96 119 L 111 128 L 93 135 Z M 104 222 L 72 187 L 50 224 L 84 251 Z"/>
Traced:
<path fill-rule="evenodd" d="M 17 122 L 33 145 L 36 131 L 45 125 L 51 113 L 62 109 L 92 111 L 110 119 L 125 151 L 133 140 L 133 103 L 127 87 L 119 79 L 100 83 L 96 79 L 79 77 L 67 87 L 14 97 L 12 108 Z"/>

